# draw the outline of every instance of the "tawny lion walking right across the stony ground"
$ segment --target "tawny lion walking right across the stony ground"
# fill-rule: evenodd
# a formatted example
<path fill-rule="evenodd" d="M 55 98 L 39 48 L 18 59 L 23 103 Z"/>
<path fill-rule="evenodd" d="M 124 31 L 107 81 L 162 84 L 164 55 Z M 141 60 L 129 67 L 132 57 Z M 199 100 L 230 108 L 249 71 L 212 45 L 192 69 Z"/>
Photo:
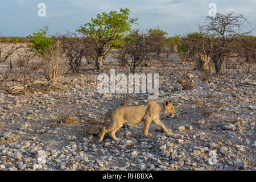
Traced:
<path fill-rule="evenodd" d="M 145 137 L 152 136 L 152 134 L 148 133 L 151 121 L 153 121 L 156 126 L 163 129 L 164 132 L 171 132 L 172 130 L 167 129 L 160 121 L 160 114 L 170 114 L 171 116 L 176 114 L 172 101 L 149 101 L 142 105 L 122 106 L 110 109 L 106 114 L 104 122 L 105 125 L 109 118 L 109 126 L 104 126 L 102 128 L 99 142 L 102 141 L 106 133 L 109 133 L 110 137 L 115 141 L 121 140 L 120 138 L 115 137 L 115 132 L 117 132 L 123 124 L 137 124 L 144 122 Z"/>

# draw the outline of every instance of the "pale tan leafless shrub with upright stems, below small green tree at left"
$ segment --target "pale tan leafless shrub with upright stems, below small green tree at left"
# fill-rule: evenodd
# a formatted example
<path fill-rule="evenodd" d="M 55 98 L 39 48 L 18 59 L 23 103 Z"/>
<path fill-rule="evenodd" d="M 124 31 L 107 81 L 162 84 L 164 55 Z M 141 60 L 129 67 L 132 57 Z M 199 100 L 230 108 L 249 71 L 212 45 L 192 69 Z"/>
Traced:
<path fill-rule="evenodd" d="M 68 71 L 68 64 L 65 62 L 64 54 L 63 46 L 57 40 L 42 55 L 43 74 L 52 84 L 56 84 L 57 79 Z"/>

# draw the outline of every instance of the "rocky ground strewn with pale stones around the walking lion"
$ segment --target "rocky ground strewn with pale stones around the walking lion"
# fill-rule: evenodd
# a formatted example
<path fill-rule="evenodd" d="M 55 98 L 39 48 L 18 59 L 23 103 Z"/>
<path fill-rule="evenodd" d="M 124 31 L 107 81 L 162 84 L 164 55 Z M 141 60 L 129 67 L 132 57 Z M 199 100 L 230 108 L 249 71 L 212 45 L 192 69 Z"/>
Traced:
<path fill-rule="evenodd" d="M 115 61 L 110 68 L 123 72 Z M 139 68 L 159 73 L 158 100 L 173 100 L 177 115 L 160 119 L 172 133 L 151 123 L 125 125 L 121 141 L 98 142 L 104 114 L 121 105 L 147 102 L 147 94 L 99 94 L 90 65 L 65 75 L 58 89 L 41 85 L 22 93 L 0 89 L 0 170 L 256 170 L 255 64 L 229 65 L 214 77 L 173 55 Z M 128 71 L 128 69 L 126 70 Z"/>

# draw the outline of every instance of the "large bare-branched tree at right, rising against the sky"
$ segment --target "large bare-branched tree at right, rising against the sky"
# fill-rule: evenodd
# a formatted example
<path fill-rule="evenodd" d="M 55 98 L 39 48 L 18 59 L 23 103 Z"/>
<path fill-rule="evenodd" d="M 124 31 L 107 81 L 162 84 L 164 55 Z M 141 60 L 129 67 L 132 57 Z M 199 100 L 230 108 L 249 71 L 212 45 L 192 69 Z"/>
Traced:
<path fill-rule="evenodd" d="M 231 12 L 227 15 L 217 13 L 215 16 L 206 16 L 204 26 L 199 29 L 212 38 L 210 56 L 214 63 L 216 75 L 223 75 L 226 65 L 226 57 L 232 53 L 234 42 L 241 35 L 247 35 L 251 31 L 243 32 L 242 27 L 249 24 L 242 14 L 236 15 Z"/>

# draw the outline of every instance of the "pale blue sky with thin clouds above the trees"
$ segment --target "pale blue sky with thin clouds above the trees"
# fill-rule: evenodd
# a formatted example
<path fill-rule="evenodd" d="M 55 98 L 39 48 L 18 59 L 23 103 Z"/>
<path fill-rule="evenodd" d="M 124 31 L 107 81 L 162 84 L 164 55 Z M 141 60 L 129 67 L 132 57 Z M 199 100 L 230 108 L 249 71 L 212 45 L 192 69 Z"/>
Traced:
<path fill-rule="evenodd" d="M 38 16 L 39 3 L 46 5 L 46 16 Z M 199 31 L 199 24 L 204 24 L 212 9 L 210 3 L 216 5 L 217 13 L 234 11 L 249 18 L 245 31 L 256 28 L 256 0 L 1 0 L 0 32 L 2 36 L 28 36 L 48 26 L 49 35 L 64 34 L 76 31 L 97 14 L 127 8 L 130 18 L 139 18 L 139 25 L 132 28 L 160 28 L 168 36 L 184 35 Z"/>

